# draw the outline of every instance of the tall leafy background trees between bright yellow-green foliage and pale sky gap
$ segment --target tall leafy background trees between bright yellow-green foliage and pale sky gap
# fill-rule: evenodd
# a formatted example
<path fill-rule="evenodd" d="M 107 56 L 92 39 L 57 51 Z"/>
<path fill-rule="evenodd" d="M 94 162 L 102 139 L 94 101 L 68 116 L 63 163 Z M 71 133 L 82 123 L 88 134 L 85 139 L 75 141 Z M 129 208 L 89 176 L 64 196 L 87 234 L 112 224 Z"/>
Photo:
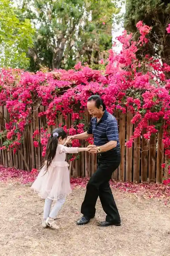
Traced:
<path fill-rule="evenodd" d="M 98 64 L 100 53 L 112 46 L 116 0 L 35 0 L 18 6 L 20 18 L 36 26 L 34 47 L 28 52 L 31 71 L 72 68 L 78 61 Z"/>

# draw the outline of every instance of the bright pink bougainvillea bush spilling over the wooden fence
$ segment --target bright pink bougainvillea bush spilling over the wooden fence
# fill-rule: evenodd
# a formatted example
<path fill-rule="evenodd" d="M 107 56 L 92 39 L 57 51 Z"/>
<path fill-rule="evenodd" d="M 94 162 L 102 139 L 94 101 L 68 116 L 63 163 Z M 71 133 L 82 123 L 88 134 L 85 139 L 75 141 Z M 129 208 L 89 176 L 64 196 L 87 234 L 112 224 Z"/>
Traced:
<path fill-rule="evenodd" d="M 14 153 L 18 150 L 23 130 L 31 122 L 35 105 L 46 106 L 46 111 L 39 113 L 39 116 L 46 115 L 48 126 L 55 126 L 59 113 L 65 119 L 71 114 L 74 125 L 68 130 L 69 134 L 83 132 L 87 98 L 91 94 L 99 94 L 109 112 L 113 113 L 116 109 L 125 113 L 129 109 L 133 113 L 131 122 L 136 124 L 136 128 L 126 142 L 127 147 L 132 147 L 134 139 L 141 136 L 144 128 L 147 140 L 159 129 L 163 129 L 165 154 L 169 159 L 170 80 L 166 74 L 170 72 L 170 66 L 153 56 L 136 58 L 138 49 L 148 43 L 147 36 L 152 29 L 141 21 L 136 27 L 140 33 L 138 41 L 133 40 L 133 34 L 124 31 L 118 37 L 122 51 L 118 54 L 112 49 L 109 51 L 108 61 L 101 61 L 104 71 L 92 70 L 81 63 L 75 65 L 74 70 L 41 71 L 36 74 L 14 69 L 2 70 L 0 104 L 6 105 L 10 122 L 6 123 L 5 130 L 1 132 L 1 136 L 6 138 L 1 149 L 12 148 Z M 66 126 L 64 129 L 67 129 Z M 38 130 L 34 131 L 34 146 L 38 147 L 39 143 L 43 145 L 43 156 L 48 137 L 47 127 L 42 128 L 40 134 Z M 75 140 L 73 146 L 77 145 L 79 141 Z M 169 162 L 165 164 L 169 165 Z M 170 165 L 168 168 L 170 173 Z M 170 183 L 170 179 L 164 183 Z"/>

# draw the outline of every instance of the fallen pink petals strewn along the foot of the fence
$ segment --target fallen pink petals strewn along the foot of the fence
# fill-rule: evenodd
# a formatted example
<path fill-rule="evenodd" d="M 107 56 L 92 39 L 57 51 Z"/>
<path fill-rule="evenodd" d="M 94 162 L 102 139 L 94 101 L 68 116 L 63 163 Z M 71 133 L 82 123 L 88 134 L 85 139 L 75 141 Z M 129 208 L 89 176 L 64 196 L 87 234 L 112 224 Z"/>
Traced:
<path fill-rule="evenodd" d="M 16 168 L 6 168 L 0 166 L 0 181 L 6 182 L 9 180 L 17 181 L 21 184 L 32 184 L 38 175 L 38 171 L 34 169 L 33 172 L 18 170 Z M 85 188 L 89 178 L 78 177 L 70 179 L 71 188 L 82 187 Z M 111 188 L 121 190 L 123 193 L 131 193 L 145 199 L 162 199 L 165 205 L 170 202 L 170 185 L 162 183 L 132 183 L 110 181 Z M 21 196 L 19 196 L 21 198 Z"/>

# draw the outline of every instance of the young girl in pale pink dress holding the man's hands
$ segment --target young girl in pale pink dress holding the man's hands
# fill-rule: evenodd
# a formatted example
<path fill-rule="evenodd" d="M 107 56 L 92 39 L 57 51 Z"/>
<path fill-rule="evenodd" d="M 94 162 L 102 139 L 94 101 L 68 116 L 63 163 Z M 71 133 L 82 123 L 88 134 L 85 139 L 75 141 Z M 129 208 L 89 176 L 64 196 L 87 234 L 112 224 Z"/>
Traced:
<path fill-rule="evenodd" d="M 69 164 L 66 160 L 66 153 L 78 153 L 88 151 L 84 147 L 66 147 L 67 134 L 62 128 L 52 131 L 47 144 L 46 162 L 40 170 L 37 179 L 31 186 L 42 198 L 45 198 L 43 227 L 58 229 L 56 216 L 65 202 L 66 196 L 71 192 Z M 51 212 L 51 204 L 56 200 Z"/>

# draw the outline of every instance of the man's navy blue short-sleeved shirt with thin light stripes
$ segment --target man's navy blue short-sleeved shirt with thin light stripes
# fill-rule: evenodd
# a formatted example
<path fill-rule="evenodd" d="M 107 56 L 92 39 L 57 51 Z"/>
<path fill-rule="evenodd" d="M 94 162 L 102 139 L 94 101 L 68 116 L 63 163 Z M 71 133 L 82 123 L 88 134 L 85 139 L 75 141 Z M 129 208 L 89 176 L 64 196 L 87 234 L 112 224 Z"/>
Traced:
<path fill-rule="evenodd" d="M 91 118 L 87 133 L 93 134 L 96 146 L 102 146 L 109 141 L 117 141 L 117 146 L 113 150 L 120 148 L 117 120 L 107 110 L 98 123 L 96 117 Z"/>

